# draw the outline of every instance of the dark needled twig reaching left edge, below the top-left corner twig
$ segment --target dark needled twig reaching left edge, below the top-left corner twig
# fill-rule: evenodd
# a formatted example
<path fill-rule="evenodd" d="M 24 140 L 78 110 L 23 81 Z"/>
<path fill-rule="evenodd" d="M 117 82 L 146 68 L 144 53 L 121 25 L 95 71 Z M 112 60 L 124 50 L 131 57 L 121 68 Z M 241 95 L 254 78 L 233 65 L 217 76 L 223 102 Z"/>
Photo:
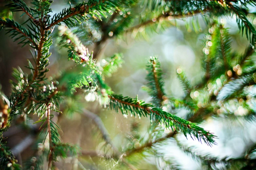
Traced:
<path fill-rule="evenodd" d="M 10 20 L 10 19 L 3 20 L 0 18 L 0 30 L 3 28 L 10 28 L 6 31 L 7 31 L 7 34 L 10 34 L 10 36 L 12 38 L 21 34 L 21 36 L 16 37 L 14 39 L 14 41 L 20 40 L 20 42 L 18 44 L 26 45 L 28 43 L 32 43 L 33 46 L 31 44 L 29 44 L 32 48 L 34 48 L 34 49 L 38 48 L 38 45 L 35 42 L 33 33 L 31 31 L 27 30 L 25 27 L 21 26 L 18 22 Z"/>

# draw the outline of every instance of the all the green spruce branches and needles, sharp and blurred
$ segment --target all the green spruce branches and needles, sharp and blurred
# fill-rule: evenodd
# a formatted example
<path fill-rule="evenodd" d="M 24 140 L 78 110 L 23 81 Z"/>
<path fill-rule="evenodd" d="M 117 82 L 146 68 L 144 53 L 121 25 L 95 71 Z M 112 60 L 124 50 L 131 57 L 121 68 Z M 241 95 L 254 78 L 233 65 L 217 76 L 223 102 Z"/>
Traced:
<path fill-rule="evenodd" d="M 244 54 L 232 52 L 231 37 L 228 30 L 218 24 L 217 21 L 211 20 L 209 23 L 211 26 L 210 35 L 207 36 L 208 39 L 203 50 L 205 53 L 203 81 L 192 87 L 186 74 L 178 72 L 178 77 L 186 94 L 182 99 L 175 97 L 168 99 L 166 96 L 163 88 L 163 72 L 156 56 L 151 57 L 146 66 L 147 86 L 144 87 L 153 98 L 153 104 L 138 100 L 138 97 L 133 99 L 113 94 L 104 80 L 117 72 L 117 69 L 124 63 L 122 55 L 114 54 L 111 58 L 105 59 L 103 66 L 100 67 L 93 59 L 93 52 L 89 53 L 84 45 L 96 43 L 97 49 L 97 45 L 99 46 L 101 42 L 106 42 L 113 37 L 121 37 L 125 32 L 131 30 L 137 30 L 145 36 L 143 30 L 147 24 L 151 25 L 152 28 L 156 27 L 155 31 L 158 32 L 168 26 L 164 21 L 166 18 L 171 20 L 192 16 L 193 28 L 195 30 L 198 28 L 200 31 L 200 25 L 195 15 L 201 13 L 205 16 L 236 15 L 239 29 L 245 33 L 250 43 L 254 44 L 256 32 L 247 17 L 249 14 L 251 15 L 247 5 L 256 5 L 253 0 L 234 0 L 232 2 L 221 0 L 148 0 L 142 4 L 134 0 L 89 0 L 74 7 L 70 3 L 69 8 L 65 8 L 54 15 L 51 15 L 52 9 L 50 8 L 53 1 L 33 0 L 33 8 L 27 7 L 22 0 L 10 0 L 10 2 L 8 5 L 10 11 L 23 11 L 22 16 L 28 17 L 25 22 L 27 23 L 26 28 L 14 20 L 3 17 L 0 19 L 0 29 L 6 29 L 7 34 L 14 38 L 14 41 L 19 40 L 19 43 L 23 45 L 30 45 L 33 49 L 31 51 L 33 61 L 28 61 L 26 66 L 30 70 L 29 74 L 24 73 L 20 68 L 14 69 L 12 76 L 15 80 L 11 82 L 13 92 L 8 97 L 1 94 L 0 141 L 3 139 L 2 133 L 9 128 L 10 123 L 16 119 L 17 115 L 31 116 L 31 113 L 36 115 L 38 121 L 35 121 L 34 124 L 38 124 L 40 128 L 35 135 L 45 134 L 44 138 L 40 140 L 49 147 L 42 146 L 41 154 L 35 157 L 37 161 L 32 161 L 32 166 L 35 169 L 43 169 L 45 161 L 48 162 L 48 169 L 52 169 L 54 162 L 58 161 L 58 157 L 66 158 L 68 155 L 76 157 L 79 153 L 77 146 L 61 142 L 58 133 L 60 127 L 54 121 L 54 115 L 51 112 L 62 113 L 59 110 L 62 102 L 62 104 L 67 105 L 64 108 L 64 113 L 81 112 L 83 103 L 76 96 L 80 89 L 82 89 L 80 91 L 82 93 L 95 93 L 97 95 L 95 98 L 101 104 L 104 106 L 108 104 L 111 109 L 117 112 L 120 110 L 124 115 L 130 113 L 134 117 L 149 117 L 153 124 L 151 126 L 153 130 L 150 131 L 151 136 L 147 139 L 142 137 L 144 145 L 137 149 L 127 149 L 126 153 L 129 155 L 135 150 L 139 152 L 143 151 L 144 148 L 153 148 L 151 152 L 167 165 L 166 169 L 179 169 L 180 166 L 164 159 L 162 154 L 157 153 L 157 149 L 154 148 L 155 144 L 165 141 L 166 138 L 175 137 L 177 132 L 181 132 L 186 137 L 190 135 L 193 140 L 197 139 L 201 143 L 204 142 L 212 146 L 216 144 L 214 141 L 216 136 L 195 122 L 207 120 L 213 115 L 217 117 L 222 114 L 228 116 L 255 114 L 256 108 L 251 108 L 252 105 L 250 105 L 250 102 L 253 102 L 252 97 L 255 96 L 250 92 L 250 88 L 255 85 L 254 49 L 250 45 Z M 144 9 L 141 10 L 140 8 Z M 131 27 L 137 21 L 137 14 L 140 14 L 142 23 Z M 110 15 L 112 16 L 109 17 Z M 106 17 L 109 18 L 104 19 Z M 81 24 L 83 21 L 85 23 Z M 61 22 L 65 25 L 60 25 Z M 77 26 L 77 24 L 81 25 Z M 90 26 L 86 24 L 90 24 Z M 68 49 L 68 59 L 75 61 L 74 64 L 76 65 L 71 68 L 72 71 L 65 70 L 55 78 L 48 78 L 46 76 L 49 71 L 48 58 L 51 55 L 49 50 L 53 44 L 51 34 L 55 25 L 59 25 L 59 32 L 54 38 L 57 38 L 60 48 Z M 68 29 L 70 27 L 76 28 L 71 31 Z M 189 29 L 188 24 L 186 27 Z M 84 28 L 86 30 L 83 30 Z M 91 38 L 92 35 L 98 33 L 98 38 L 96 36 Z M 134 33 L 137 34 L 134 31 L 133 36 Z M 236 102 L 233 105 L 237 107 L 236 111 L 229 107 L 232 102 Z M 185 116 L 187 120 L 175 115 L 181 109 L 188 111 Z M 167 135 L 162 135 L 163 128 L 159 128 L 157 123 L 172 131 Z M 139 133 L 136 133 L 138 131 L 136 124 L 132 128 L 133 135 L 139 138 Z M 114 149 L 112 145 L 111 147 Z M 209 155 L 197 155 L 190 149 L 184 148 L 196 161 L 208 166 L 209 169 L 216 169 L 216 163 L 225 162 L 224 159 L 217 160 Z M 118 151 L 115 152 L 115 154 L 118 153 Z M 255 161 L 252 158 L 253 152 L 255 152 L 255 148 L 248 152 L 248 158 L 242 159 L 242 162 L 246 164 L 244 168 L 251 167 Z M 118 160 L 125 162 L 123 156 L 124 154 L 115 155 Z M 232 161 L 239 162 L 241 159 Z M 27 167 L 30 168 L 31 166 L 25 166 L 25 168 Z M 128 167 L 131 166 L 128 165 Z M 0 168 L 21 168 L 4 143 L 0 143 Z"/>

